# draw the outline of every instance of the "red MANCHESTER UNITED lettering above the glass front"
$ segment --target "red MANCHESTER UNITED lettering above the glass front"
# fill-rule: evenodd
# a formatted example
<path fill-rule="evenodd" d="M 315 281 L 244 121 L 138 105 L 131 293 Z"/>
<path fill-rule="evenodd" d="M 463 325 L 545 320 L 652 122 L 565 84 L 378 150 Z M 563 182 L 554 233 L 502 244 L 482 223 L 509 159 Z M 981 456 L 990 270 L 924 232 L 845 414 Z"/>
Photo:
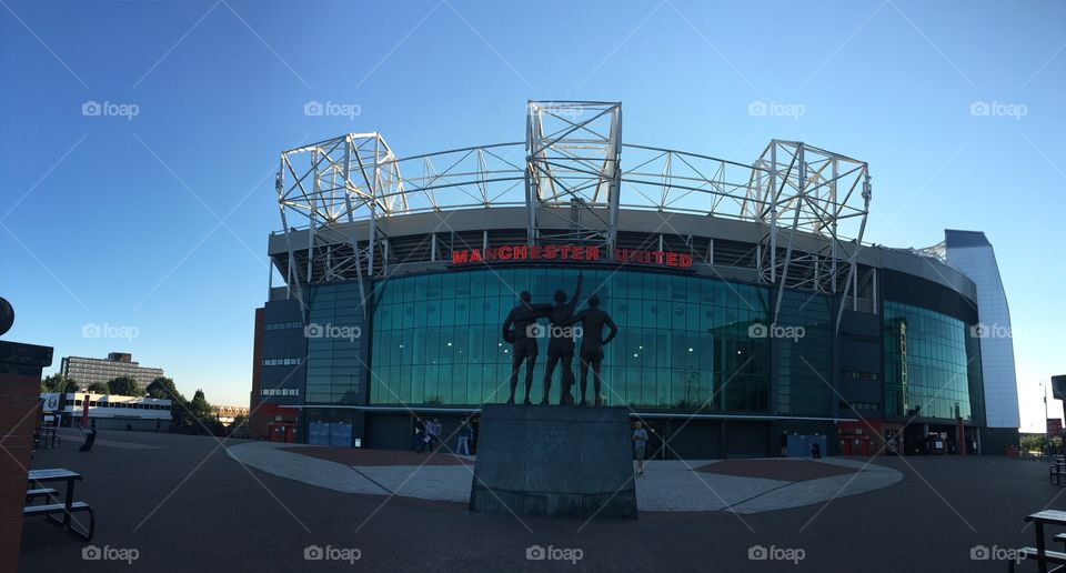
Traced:
<path fill-rule="evenodd" d="M 614 257 L 610 257 L 613 254 Z M 604 253 L 599 247 L 580 244 L 504 245 L 489 249 L 457 249 L 452 251 L 452 264 L 474 264 L 495 261 L 547 261 L 586 262 L 616 261 L 623 263 L 654 264 L 658 267 L 690 268 L 692 255 L 670 251 L 642 251 L 615 249 Z"/>

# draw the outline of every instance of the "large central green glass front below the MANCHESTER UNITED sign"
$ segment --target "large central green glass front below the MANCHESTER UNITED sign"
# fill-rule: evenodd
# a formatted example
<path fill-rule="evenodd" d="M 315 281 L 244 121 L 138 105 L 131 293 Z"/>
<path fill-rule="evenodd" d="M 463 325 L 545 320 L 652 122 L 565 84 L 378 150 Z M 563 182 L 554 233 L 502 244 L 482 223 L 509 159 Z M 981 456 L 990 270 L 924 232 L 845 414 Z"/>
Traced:
<path fill-rule="evenodd" d="M 600 308 L 620 329 L 604 348 L 607 404 L 695 410 L 706 402 L 705 411 L 768 411 L 770 339 L 750 334 L 753 324 L 768 323 L 767 289 L 662 272 L 583 272 L 577 310 L 595 292 Z M 570 296 L 575 280 L 573 269 L 517 268 L 380 283 L 374 294 L 370 403 L 505 401 L 511 345 L 502 340 L 501 325 L 517 304 L 517 292 L 527 290 L 534 302 L 549 302 L 556 289 Z M 536 401 L 543 395 L 546 348 L 541 340 L 531 394 Z M 574 374 L 580 380 L 576 358 Z M 553 402 L 560 379 L 556 369 Z M 592 380 L 589 385 L 591 400 Z M 520 400 L 523 391 L 520 378 Z"/>

